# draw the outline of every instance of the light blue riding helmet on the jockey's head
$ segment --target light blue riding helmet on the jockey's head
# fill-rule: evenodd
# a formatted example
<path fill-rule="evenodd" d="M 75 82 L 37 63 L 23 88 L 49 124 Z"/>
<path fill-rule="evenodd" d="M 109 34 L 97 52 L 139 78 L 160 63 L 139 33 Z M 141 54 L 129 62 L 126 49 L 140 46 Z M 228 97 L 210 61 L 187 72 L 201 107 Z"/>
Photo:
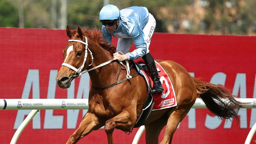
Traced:
<path fill-rule="evenodd" d="M 100 18 L 99 20 L 115 20 L 120 18 L 120 11 L 117 6 L 112 4 L 108 4 L 100 10 Z"/>

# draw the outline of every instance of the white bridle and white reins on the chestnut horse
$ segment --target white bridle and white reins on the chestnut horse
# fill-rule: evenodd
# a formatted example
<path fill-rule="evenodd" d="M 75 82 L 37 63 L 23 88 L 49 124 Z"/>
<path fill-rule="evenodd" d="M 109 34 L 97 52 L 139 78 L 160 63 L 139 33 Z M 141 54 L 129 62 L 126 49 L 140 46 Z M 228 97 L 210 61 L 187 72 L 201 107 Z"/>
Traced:
<path fill-rule="evenodd" d="M 83 70 L 83 67 L 84 67 L 84 65 L 85 65 L 85 63 L 86 63 L 86 60 L 87 60 L 87 54 L 88 54 L 87 49 L 89 50 L 89 52 L 90 52 L 90 54 L 91 54 L 91 59 L 92 59 L 92 62 L 91 62 L 91 64 L 90 64 L 89 66 L 91 66 L 91 65 L 93 64 L 93 53 L 92 53 L 91 50 L 88 48 L 87 37 L 85 37 L 85 42 L 80 41 L 80 40 L 76 40 L 76 39 L 70 39 L 69 41 L 70 41 L 70 42 L 81 42 L 82 44 L 85 45 L 85 55 L 84 55 L 84 59 L 83 59 L 83 65 L 80 66 L 80 68 L 77 69 L 77 68 L 75 68 L 74 66 L 69 65 L 68 63 L 62 63 L 62 65 L 61 65 L 61 66 L 67 66 L 67 67 L 71 68 L 72 70 L 76 71 L 76 74 L 78 74 L 78 75 L 75 74 L 73 77 L 77 77 L 77 76 L 78 76 L 78 78 L 79 78 L 79 77 L 80 77 L 83 73 L 85 73 L 85 72 L 89 72 L 89 71 L 94 70 L 94 69 L 96 69 L 96 68 L 99 68 L 99 67 L 101 67 L 101 66 L 108 65 L 108 64 L 111 63 L 112 61 L 115 61 L 115 60 L 116 60 L 116 59 L 111 59 L 110 61 L 107 61 L 107 62 L 105 62 L 105 63 L 102 63 L 102 64 L 100 64 L 100 65 L 98 65 L 98 66 L 95 66 L 94 68 L 91 68 L 91 69 L 89 69 L 89 70 L 84 70 L 84 71 L 82 71 L 82 70 Z M 117 53 L 123 54 L 122 52 L 117 52 Z M 121 65 L 123 65 L 123 66 L 126 68 L 126 72 L 127 72 L 126 78 L 127 78 L 127 79 L 131 79 L 132 76 L 130 76 L 130 67 L 129 67 L 128 61 L 126 60 L 126 66 L 125 66 L 121 61 L 119 61 L 119 63 L 121 63 Z"/>

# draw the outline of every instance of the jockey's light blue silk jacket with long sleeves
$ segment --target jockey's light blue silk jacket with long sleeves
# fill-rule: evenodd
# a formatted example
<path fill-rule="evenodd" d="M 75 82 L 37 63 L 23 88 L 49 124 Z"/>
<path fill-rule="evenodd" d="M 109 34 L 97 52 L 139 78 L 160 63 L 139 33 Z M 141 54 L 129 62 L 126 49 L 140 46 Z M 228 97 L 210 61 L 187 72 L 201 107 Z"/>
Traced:
<path fill-rule="evenodd" d="M 102 25 L 102 39 L 106 39 L 111 43 L 112 35 L 117 38 L 132 38 L 136 49 L 129 52 L 128 59 L 137 59 L 146 54 L 147 43 L 144 37 L 143 28 L 148 22 L 148 9 L 147 7 L 127 7 L 120 11 L 120 23 L 113 33 L 109 33 L 106 26 Z"/>

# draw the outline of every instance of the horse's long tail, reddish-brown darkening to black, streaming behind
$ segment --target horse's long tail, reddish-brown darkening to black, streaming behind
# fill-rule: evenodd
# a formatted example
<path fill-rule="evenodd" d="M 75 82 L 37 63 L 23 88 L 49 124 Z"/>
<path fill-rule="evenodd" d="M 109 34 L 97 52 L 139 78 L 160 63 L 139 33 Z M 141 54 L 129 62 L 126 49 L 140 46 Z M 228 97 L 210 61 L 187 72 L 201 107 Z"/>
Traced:
<path fill-rule="evenodd" d="M 206 107 L 219 118 L 238 119 L 237 113 L 242 106 L 228 89 L 221 85 L 200 81 L 193 78 L 197 87 L 197 96 L 201 98 Z"/>

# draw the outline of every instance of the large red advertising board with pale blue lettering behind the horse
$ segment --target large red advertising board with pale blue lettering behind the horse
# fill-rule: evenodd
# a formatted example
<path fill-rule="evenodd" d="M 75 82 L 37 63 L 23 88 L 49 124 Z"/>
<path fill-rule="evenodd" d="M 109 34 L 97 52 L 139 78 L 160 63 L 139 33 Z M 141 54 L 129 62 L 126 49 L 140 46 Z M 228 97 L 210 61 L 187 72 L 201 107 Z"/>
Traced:
<path fill-rule="evenodd" d="M 0 99 L 88 98 L 88 74 L 76 79 L 69 89 L 56 85 L 55 76 L 63 62 L 62 49 L 68 40 L 65 30 L 0 28 L 0 33 Z M 114 38 L 115 45 L 116 42 Z M 256 37 L 155 33 L 150 53 L 155 59 L 176 61 L 192 76 L 222 84 L 240 98 L 256 98 Z M 1 144 L 9 144 L 29 112 L 0 111 Z M 63 144 L 78 127 L 85 112 L 41 110 L 20 135 L 17 144 Z M 256 122 L 256 109 L 241 109 L 239 119 L 239 122 L 219 120 L 207 109 L 191 109 L 174 133 L 173 143 L 244 143 Z M 137 128 L 126 135 L 116 129 L 114 142 L 131 144 L 136 132 Z M 106 144 L 104 129 L 93 131 L 78 142 L 82 143 Z M 145 134 L 139 140 L 139 144 L 144 143 Z"/>

